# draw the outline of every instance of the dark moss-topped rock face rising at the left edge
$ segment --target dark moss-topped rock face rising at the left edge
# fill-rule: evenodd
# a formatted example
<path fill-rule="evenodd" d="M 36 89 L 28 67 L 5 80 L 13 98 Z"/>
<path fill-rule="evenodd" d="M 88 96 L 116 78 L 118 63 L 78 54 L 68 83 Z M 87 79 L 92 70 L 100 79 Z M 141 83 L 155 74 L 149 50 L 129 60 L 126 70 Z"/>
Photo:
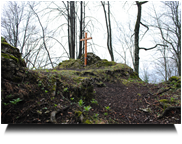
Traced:
<path fill-rule="evenodd" d="M 21 82 L 25 77 L 26 63 L 21 58 L 18 48 L 7 43 L 1 37 L 1 112 L 3 105 L 18 103 L 27 95 L 25 91 L 15 92 L 12 84 Z"/>

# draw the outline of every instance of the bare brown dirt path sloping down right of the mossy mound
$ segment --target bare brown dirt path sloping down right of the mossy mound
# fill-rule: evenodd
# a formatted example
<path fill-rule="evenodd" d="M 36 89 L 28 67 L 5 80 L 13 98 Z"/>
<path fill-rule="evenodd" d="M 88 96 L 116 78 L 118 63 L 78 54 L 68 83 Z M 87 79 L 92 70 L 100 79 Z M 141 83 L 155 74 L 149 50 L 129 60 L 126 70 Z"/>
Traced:
<path fill-rule="evenodd" d="M 112 112 L 107 117 L 112 117 L 118 123 L 129 124 L 162 124 L 162 123 L 181 123 L 181 109 L 170 112 L 167 118 L 158 119 L 163 112 L 159 102 L 156 100 L 156 93 L 159 88 L 147 84 L 130 84 L 125 86 L 122 83 L 106 83 L 106 87 L 95 88 L 96 100 L 102 106 L 110 106 Z M 149 92 L 150 91 L 150 92 Z M 167 98 L 166 95 L 161 96 Z M 142 109 L 150 109 L 144 112 Z"/>

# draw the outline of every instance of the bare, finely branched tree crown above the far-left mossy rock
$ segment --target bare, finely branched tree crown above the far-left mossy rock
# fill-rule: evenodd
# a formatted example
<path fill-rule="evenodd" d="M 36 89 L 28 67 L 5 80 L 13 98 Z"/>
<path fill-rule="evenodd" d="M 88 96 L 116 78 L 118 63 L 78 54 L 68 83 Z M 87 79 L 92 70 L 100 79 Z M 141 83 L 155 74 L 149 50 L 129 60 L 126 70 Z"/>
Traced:
<path fill-rule="evenodd" d="M 26 2 L 8 1 L 1 17 L 1 35 L 20 52 L 28 39 L 38 33 L 36 26 L 31 24 L 32 13 L 27 10 Z M 22 26 L 25 24 L 24 26 Z"/>

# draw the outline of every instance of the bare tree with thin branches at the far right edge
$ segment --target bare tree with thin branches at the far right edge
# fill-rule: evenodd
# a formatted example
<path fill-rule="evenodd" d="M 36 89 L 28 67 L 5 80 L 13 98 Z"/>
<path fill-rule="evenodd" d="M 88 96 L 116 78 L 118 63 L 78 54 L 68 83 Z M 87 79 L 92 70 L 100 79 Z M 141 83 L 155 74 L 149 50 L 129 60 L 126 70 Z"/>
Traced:
<path fill-rule="evenodd" d="M 178 75 L 181 76 L 181 4 L 179 1 L 163 3 L 169 11 L 158 15 L 154 8 L 157 25 L 152 26 L 160 31 L 162 40 L 169 46 L 168 50 L 172 53 L 170 58 L 176 63 Z"/>

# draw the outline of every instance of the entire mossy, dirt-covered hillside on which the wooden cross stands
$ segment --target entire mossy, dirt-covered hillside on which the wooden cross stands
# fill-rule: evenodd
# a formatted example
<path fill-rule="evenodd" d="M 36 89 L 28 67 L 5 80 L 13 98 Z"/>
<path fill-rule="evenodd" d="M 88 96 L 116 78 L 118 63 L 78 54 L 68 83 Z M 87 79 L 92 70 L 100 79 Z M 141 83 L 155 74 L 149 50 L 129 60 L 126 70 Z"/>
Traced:
<path fill-rule="evenodd" d="M 147 84 L 129 66 L 93 53 L 86 67 L 82 55 L 54 69 L 30 70 L 1 37 L 2 123 L 180 123 L 180 87 L 181 77 Z M 171 110 L 175 116 L 164 118 Z"/>

